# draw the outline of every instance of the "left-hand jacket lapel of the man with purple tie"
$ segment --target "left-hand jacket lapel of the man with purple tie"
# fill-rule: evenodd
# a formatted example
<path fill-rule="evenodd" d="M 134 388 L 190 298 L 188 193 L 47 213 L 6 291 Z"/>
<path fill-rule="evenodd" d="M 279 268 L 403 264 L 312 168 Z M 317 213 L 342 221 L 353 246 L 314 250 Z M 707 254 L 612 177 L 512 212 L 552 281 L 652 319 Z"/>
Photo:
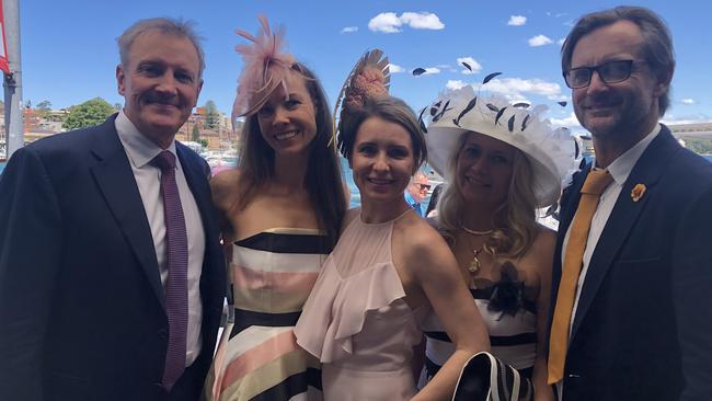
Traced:
<path fill-rule="evenodd" d="M 114 127 L 114 119 L 110 118 L 100 126 L 100 133 L 92 147 L 99 161 L 92 168 L 92 174 L 156 297 L 165 308 L 151 228 L 146 218 L 134 172 Z"/>

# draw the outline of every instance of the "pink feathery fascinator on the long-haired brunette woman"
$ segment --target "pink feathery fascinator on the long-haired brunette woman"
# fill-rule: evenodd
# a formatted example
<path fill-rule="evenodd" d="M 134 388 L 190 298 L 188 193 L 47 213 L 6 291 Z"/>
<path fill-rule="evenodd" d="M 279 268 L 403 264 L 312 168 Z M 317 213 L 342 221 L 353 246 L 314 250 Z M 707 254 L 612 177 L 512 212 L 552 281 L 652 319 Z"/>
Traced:
<path fill-rule="evenodd" d="M 239 116 L 254 114 L 277 87 L 283 85 L 286 91 L 285 80 L 296 61 L 291 54 L 282 53 L 285 44 L 284 28 L 279 26 L 276 32 L 272 32 L 267 19 L 264 15 L 259 19 L 262 27 L 256 36 L 237 31 L 238 35 L 252 44 L 236 47 L 242 55 L 244 68 L 238 79 L 238 95 L 232 105 L 233 121 Z"/>

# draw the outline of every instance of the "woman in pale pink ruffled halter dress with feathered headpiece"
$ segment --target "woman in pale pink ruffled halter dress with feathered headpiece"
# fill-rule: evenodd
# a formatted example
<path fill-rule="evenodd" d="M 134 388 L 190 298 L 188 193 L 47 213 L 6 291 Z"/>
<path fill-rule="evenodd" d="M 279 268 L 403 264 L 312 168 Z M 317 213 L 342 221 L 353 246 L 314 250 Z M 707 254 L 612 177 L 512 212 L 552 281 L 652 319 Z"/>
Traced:
<path fill-rule="evenodd" d="M 370 59 L 378 57 L 361 58 Z M 338 148 L 353 170 L 361 207 L 346 213 L 338 243 L 295 329 L 299 345 L 322 362 L 325 400 L 450 399 L 467 358 L 489 350 L 482 319 L 463 301 L 470 295 L 445 241 L 403 198 L 426 157 L 417 118 L 386 90 L 363 100 L 351 96 L 369 93 L 359 82 L 382 87 L 378 66 L 387 62 L 364 67 L 346 90 Z M 430 308 L 457 352 L 416 394 L 413 346 Z"/>

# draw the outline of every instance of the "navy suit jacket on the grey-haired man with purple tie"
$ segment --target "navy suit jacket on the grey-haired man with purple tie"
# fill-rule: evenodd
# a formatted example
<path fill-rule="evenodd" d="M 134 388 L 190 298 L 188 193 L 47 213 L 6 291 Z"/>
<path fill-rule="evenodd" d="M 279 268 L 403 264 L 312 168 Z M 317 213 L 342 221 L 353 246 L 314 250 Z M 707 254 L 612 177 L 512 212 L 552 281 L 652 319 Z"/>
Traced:
<path fill-rule="evenodd" d="M 153 240 L 114 127 L 18 150 L 0 176 L 0 400 L 158 400 L 168 317 Z M 203 350 L 170 399 L 198 397 L 225 293 L 207 176 L 176 142 L 205 227 Z"/>

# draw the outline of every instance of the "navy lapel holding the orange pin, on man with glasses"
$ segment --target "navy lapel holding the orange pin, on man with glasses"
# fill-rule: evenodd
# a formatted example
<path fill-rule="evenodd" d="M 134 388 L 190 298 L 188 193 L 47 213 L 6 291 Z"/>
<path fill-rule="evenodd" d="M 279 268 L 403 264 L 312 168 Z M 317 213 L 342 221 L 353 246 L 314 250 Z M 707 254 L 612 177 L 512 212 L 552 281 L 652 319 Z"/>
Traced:
<path fill-rule="evenodd" d="M 656 187 L 656 184 L 661 174 L 665 171 L 666 159 L 678 150 L 676 148 L 679 149 L 679 145 L 677 145 L 667 127 L 663 126 L 662 131 L 645 149 L 623 184 L 613 210 L 608 217 L 606 227 L 596 244 L 596 250 L 592 255 L 576 308 L 572 339 L 576 335 L 576 330 L 586 316 L 606 273 L 615 263 L 620 248 L 625 243 L 625 239 L 631 236 L 631 230 L 641 211 L 651 199 L 659 196 L 656 195 L 656 192 L 665 191 L 662 187 Z M 643 197 L 634 202 L 631 197 L 631 191 L 636 184 L 644 184 L 646 192 Z"/>

